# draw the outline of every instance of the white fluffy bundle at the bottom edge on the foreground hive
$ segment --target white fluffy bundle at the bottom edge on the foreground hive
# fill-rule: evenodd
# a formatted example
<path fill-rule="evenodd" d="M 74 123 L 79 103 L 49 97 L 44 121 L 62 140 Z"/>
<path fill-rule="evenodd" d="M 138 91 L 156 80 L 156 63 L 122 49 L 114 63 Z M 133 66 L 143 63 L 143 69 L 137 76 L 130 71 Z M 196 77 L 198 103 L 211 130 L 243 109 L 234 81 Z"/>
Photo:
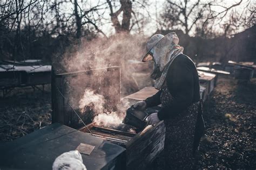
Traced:
<path fill-rule="evenodd" d="M 64 152 L 59 155 L 52 165 L 53 170 L 86 170 L 82 155 L 77 151 Z"/>

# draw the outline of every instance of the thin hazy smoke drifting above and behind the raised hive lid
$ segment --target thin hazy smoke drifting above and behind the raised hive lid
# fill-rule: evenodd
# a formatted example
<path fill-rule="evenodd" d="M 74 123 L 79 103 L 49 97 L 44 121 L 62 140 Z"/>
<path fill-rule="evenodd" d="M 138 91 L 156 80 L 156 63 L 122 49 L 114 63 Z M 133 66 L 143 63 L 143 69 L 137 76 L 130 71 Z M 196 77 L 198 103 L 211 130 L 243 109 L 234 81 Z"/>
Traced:
<path fill-rule="evenodd" d="M 142 62 L 146 41 L 146 37 L 130 34 L 82 40 L 81 45 L 72 47 L 64 54 L 61 62 L 65 72 L 120 66 L 121 92 L 122 96 L 125 96 L 152 85 L 149 76 L 152 63 Z"/>

